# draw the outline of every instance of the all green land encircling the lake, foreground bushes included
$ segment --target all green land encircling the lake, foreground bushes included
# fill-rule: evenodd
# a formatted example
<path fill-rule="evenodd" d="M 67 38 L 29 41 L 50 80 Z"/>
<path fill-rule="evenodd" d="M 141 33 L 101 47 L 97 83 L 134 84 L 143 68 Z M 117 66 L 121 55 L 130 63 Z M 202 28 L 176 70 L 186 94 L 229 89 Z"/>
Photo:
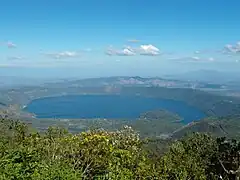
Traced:
<path fill-rule="evenodd" d="M 85 93 L 173 99 L 208 117 L 184 125 L 181 117 L 157 110 L 136 120 L 39 120 L 21 109 L 36 98 Z M 0 180 L 240 178 L 237 98 L 193 89 L 59 83 L 2 90 L 0 102 L 8 114 L 0 118 Z M 13 120 L 18 118 L 22 121 Z"/>

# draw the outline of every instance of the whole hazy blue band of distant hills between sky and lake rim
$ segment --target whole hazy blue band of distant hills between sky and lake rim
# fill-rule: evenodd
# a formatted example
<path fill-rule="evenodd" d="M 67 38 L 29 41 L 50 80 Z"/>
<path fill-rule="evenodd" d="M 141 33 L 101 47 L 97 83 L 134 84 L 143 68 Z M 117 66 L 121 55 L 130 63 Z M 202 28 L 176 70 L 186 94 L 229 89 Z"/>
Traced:
<path fill-rule="evenodd" d="M 195 75 L 193 75 L 195 74 Z M 200 79 L 200 74 L 203 79 Z M 221 74 L 221 73 L 220 73 Z M 198 79 L 195 80 L 199 76 Z M 51 87 L 51 88 L 79 88 L 79 87 L 119 87 L 119 86 L 141 86 L 141 87 L 168 87 L 168 88 L 193 88 L 193 89 L 213 89 L 223 90 L 226 84 L 229 87 L 238 88 L 240 82 L 234 79 L 223 78 L 215 71 L 189 72 L 178 76 L 166 76 L 165 78 L 151 77 L 143 78 L 139 76 L 116 76 L 116 77 L 99 77 L 88 79 L 37 79 L 0 76 L 0 88 L 17 88 L 17 87 Z M 205 80 L 204 80 L 205 77 Z M 218 78 L 217 78 L 218 77 Z M 206 80 L 208 78 L 208 80 Z M 222 81 L 225 80 L 225 84 Z M 229 81 L 227 81 L 229 80 Z M 230 81 L 232 80 L 232 81 Z M 240 89 L 240 86 L 239 86 Z"/>

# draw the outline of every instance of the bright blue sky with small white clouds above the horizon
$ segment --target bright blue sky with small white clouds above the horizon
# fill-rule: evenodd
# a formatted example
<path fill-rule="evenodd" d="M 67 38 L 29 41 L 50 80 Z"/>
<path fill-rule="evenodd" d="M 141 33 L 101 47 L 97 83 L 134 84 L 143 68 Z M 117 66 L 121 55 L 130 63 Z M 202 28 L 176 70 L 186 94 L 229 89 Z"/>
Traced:
<path fill-rule="evenodd" d="M 238 0 L 2 0 L 0 75 L 239 71 L 238 7 Z"/>

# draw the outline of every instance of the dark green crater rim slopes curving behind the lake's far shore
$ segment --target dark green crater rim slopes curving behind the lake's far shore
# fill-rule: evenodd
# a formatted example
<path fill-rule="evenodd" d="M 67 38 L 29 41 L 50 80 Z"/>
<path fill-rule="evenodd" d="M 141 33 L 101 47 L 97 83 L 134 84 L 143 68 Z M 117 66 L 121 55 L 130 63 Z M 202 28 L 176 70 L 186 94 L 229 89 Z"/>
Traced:
<path fill-rule="evenodd" d="M 147 79 L 146 79 L 147 80 Z M 186 102 L 209 116 L 228 116 L 240 114 L 240 99 L 237 97 L 221 96 L 217 93 L 209 93 L 197 89 L 148 87 L 148 84 L 122 85 L 119 78 L 80 80 L 45 84 L 41 87 L 21 87 L 15 89 L 0 90 L 0 102 L 5 105 L 19 105 L 20 111 L 34 99 L 62 96 L 62 95 L 141 95 L 154 98 L 165 98 Z"/>

